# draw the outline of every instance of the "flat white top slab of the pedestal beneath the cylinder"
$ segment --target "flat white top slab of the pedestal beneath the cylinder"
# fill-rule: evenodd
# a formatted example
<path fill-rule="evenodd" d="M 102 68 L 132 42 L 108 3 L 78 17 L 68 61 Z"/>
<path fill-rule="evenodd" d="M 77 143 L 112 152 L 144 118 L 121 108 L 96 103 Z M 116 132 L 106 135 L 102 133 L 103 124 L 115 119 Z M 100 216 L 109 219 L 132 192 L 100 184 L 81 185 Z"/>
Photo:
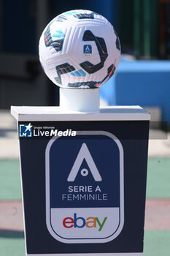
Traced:
<path fill-rule="evenodd" d="M 60 107 L 12 106 L 11 113 L 17 121 L 150 120 L 150 113 L 140 106 L 103 107 L 97 113 L 63 111 Z"/>

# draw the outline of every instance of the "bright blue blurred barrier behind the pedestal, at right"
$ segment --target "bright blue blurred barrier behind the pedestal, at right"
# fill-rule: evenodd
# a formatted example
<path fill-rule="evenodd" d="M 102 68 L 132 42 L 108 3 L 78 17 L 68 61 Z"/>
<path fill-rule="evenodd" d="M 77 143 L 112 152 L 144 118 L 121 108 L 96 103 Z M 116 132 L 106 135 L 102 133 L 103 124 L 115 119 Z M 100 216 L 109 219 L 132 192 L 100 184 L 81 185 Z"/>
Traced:
<path fill-rule="evenodd" d="M 170 124 L 170 61 L 120 61 L 115 84 L 101 89 L 108 105 L 141 105 L 161 108 Z"/>

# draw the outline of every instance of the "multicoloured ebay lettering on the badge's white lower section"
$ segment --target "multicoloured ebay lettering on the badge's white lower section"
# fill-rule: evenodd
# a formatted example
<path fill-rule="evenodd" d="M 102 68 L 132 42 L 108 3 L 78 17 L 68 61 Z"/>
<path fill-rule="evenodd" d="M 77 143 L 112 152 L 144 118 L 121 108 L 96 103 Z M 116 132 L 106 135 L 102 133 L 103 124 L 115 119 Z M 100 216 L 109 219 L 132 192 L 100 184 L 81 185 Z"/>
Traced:
<path fill-rule="evenodd" d="M 66 228 L 82 228 L 82 227 L 96 227 L 98 231 L 101 231 L 104 227 L 107 217 L 104 217 L 103 220 L 99 220 L 98 217 L 88 217 L 87 219 L 83 217 L 77 217 L 77 214 L 74 213 L 74 217 L 66 217 L 63 219 L 63 227 Z"/>

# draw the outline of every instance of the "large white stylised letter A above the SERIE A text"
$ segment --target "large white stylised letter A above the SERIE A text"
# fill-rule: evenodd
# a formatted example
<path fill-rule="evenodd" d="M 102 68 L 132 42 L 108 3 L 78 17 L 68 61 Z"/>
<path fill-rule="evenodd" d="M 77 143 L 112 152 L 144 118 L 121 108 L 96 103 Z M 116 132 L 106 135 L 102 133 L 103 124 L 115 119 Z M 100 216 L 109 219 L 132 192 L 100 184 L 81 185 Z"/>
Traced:
<path fill-rule="evenodd" d="M 93 157 L 91 156 L 90 151 L 88 150 L 88 146 L 85 143 L 82 143 L 82 147 L 80 148 L 79 154 L 77 155 L 77 158 L 74 162 L 71 172 L 69 173 L 69 177 L 67 178 L 67 181 L 75 180 L 77 173 L 79 172 L 80 167 L 82 165 L 82 161 L 84 159 L 87 162 L 90 172 L 93 175 L 93 178 L 95 179 L 95 181 L 101 181 L 102 178 L 100 176 L 100 173 L 98 172 L 98 169 L 93 160 Z M 82 176 L 87 176 L 88 170 L 82 169 L 81 174 Z"/>

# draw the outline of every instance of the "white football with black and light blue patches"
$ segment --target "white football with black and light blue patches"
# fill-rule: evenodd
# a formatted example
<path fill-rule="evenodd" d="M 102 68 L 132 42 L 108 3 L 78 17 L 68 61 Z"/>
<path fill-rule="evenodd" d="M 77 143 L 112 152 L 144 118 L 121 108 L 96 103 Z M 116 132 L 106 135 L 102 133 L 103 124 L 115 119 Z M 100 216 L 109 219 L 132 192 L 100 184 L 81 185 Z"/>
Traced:
<path fill-rule="evenodd" d="M 57 86 L 92 89 L 114 74 L 120 61 L 120 40 L 111 23 L 96 12 L 63 12 L 42 32 L 39 59 Z"/>

